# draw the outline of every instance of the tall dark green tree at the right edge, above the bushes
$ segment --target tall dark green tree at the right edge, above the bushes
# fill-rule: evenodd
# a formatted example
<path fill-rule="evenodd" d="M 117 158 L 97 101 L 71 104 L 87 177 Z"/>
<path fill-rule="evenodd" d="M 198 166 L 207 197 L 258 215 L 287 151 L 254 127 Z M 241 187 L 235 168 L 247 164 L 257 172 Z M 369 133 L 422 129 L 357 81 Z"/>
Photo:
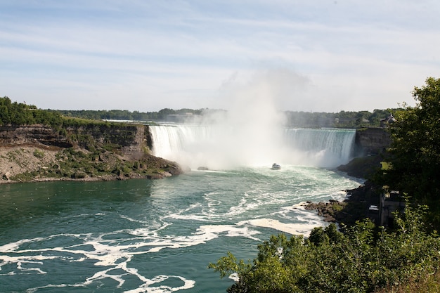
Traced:
<path fill-rule="evenodd" d="M 386 159 L 391 169 L 382 185 L 427 204 L 440 223 L 440 79 L 427 78 L 425 86 L 415 87 L 413 97 L 415 107 L 397 112 L 389 129 L 393 142 Z"/>

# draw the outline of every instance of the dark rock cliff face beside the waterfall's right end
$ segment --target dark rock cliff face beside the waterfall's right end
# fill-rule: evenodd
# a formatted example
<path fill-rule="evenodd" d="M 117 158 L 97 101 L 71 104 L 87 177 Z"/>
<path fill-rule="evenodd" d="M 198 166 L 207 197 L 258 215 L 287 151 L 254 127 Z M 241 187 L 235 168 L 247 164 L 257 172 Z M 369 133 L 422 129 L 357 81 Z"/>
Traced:
<path fill-rule="evenodd" d="M 385 129 L 367 128 L 356 131 L 356 155 L 377 155 L 391 143 L 391 138 Z"/>

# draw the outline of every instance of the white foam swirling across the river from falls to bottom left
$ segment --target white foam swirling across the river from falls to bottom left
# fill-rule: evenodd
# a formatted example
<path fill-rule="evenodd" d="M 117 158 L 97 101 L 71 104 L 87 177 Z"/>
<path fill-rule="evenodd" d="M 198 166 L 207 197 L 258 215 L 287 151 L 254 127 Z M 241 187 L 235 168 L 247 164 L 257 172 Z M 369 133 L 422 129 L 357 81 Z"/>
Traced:
<path fill-rule="evenodd" d="M 285 183 L 283 179 L 287 177 L 280 177 L 280 174 L 283 174 L 282 172 L 295 174 L 304 172 L 304 178 L 307 180 L 318 180 L 319 178 L 313 178 L 313 170 L 313 168 L 297 170 L 293 167 L 289 169 L 289 166 L 286 166 L 281 172 L 275 173 L 264 169 L 264 171 L 261 171 L 262 174 L 256 177 L 257 179 L 246 182 L 245 185 L 239 185 L 240 188 L 231 188 L 226 185 L 226 188 L 224 188 L 226 195 L 217 192 L 217 190 L 222 189 L 217 188 L 216 185 L 214 185 L 214 188 L 207 188 L 204 195 L 200 195 L 199 191 L 205 192 L 205 190 L 199 188 L 197 197 L 190 197 L 189 205 L 187 203 L 178 205 L 175 209 L 164 206 L 163 210 L 158 213 L 159 216 L 151 220 L 153 223 L 145 221 L 146 218 L 142 214 L 139 219 L 136 219 L 136 215 L 143 211 L 139 209 L 133 214 L 118 214 L 118 219 L 123 219 L 121 223 L 124 226 L 122 227 L 130 227 L 127 229 L 113 230 L 108 233 L 58 234 L 1 245 L 0 270 L 3 269 L 1 275 L 46 273 L 45 270 L 48 271 L 46 268 L 51 263 L 49 260 L 56 259 L 60 262 L 78 266 L 81 266 L 81 262 L 87 263 L 88 266 L 89 263 L 93 263 L 94 266 L 91 268 L 93 271 L 89 275 L 83 276 L 83 279 L 79 279 L 80 282 L 75 284 L 46 285 L 28 289 L 29 292 L 48 287 L 96 287 L 96 285 L 100 286 L 105 283 L 105 280 L 109 280 L 111 283 L 116 282 L 118 287 L 124 288 L 129 285 L 129 280 L 134 278 L 139 280 L 138 284 L 141 285 L 136 285 L 137 288 L 129 287 L 130 289 L 127 289 L 129 290 L 127 292 L 176 292 L 189 289 L 195 286 L 195 281 L 184 278 L 184 273 L 179 276 L 155 272 L 156 277 L 146 278 L 136 268 L 130 267 L 135 266 L 134 256 L 155 254 L 162 249 L 181 249 L 203 245 L 219 237 L 242 237 L 261 242 L 259 237 L 263 239 L 267 237 L 266 234 L 262 235 L 261 230 L 264 230 L 265 233 L 267 231 L 261 228 L 307 236 L 313 228 L 325 226 L 327 223 L 323 222 L 323 219 L 316 212 L 305 210 L 302 206 L 304 203 L 292 205 L 293 202 L 297 202 L 298 194 L 304 194 L 304 200 L 309 198 L 314 200 L 315 197 L 318 198 L 321 195 L 327 197 L 327 199 L 339 198 L 345 195 L 335 191 L 333 185 L 330 185 L 329 188 L 325 187 L 325 192 L 316 191 L 315 189 L 306 193 L 304 192 L 306 187 L 304 187 L 299 192 L 292 191 L 291 193 L 290 190 L 296 187 L 293 185 L 295 182 L 292 183 L 291 188 L 290 183 Z M 258 184 L 259 178 L 266 178 L 265 173 L 278 174 L 276 176 L 278 181 L 276 182 L 281 185 L 285 183 L 287 186 L 278 188 L 277 185 L 277 188 L 273 188 L 273 192 L 271 192 L 266 189 L 264 182 Z M 325 174 L 324 177 L 326 183 L 332 181 L 331 172 Z M 226 179 L 228 178 L 225 178 L 223 183 L 228 184 Z M 209 176 L 209 180 L 213 180 L 211 176 Z M 304 185 L 309 184 L 306 180 L 297 182 Z M 162 187 L 162 185 L 160 186 Z M 155 193 L 152 198 L 161 196 L 164 195 Z M 272 205 L 276 209 L 273 209 Z M 101 212 L 79 216 L 92 218 L 96 216 L 109 219 L 109 213 Z M 125 225 L 127 223 L 128 226 Z M 132 228 L 133 226 L 137 228 Z M 113 228 L 110 227 L 110 229 Z M 57 239 L 57 237 L 60 238 Z M 67 240 L 72 240 L 72 242 L 68 242 L 69 245 L 67 246 L 65 245 L 65 237 L 70 237 L 71 239 Z M 58 240 L 60 241 L 58 242 Z M 63 244 L 53 245 L 57 242 Z M 44 245 L 48 245 L 48 247 L 46 248 Z M 29 247 L 42 248 L 30 249 Z M 176 279 L 176 281 L 173 279 Z M 165 282 L 165 280 L 168 281 Z M 60 280 L 60 282 L 63 282 L 63 280 Z M 173 285 L 170 286 L 169 284 Z"/>

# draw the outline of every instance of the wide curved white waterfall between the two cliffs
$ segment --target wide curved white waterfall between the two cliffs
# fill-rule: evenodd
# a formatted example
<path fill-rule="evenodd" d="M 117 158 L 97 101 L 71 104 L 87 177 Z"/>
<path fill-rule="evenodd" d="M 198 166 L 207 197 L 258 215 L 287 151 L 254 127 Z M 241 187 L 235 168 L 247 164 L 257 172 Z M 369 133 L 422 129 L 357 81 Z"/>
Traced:
<path fill-rule="evenodd" d="M 337 167 L 349 162 L 352 129 L 272 129 L 205 124 L 150 126 L 153 155 L 192 169 L 296 164 Z"/>

